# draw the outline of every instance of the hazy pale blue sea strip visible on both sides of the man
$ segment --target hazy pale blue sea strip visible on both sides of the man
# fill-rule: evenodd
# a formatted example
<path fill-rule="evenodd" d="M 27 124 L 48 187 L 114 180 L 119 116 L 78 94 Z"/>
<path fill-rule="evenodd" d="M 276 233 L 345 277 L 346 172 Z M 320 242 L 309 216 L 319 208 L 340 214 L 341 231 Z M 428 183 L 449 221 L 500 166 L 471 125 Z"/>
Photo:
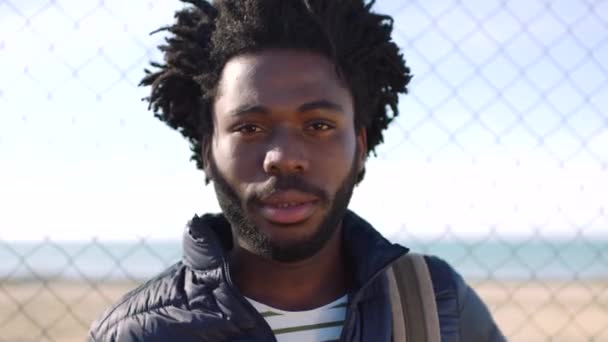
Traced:
<path fill-rule="evenodd" d="M 393 241 L 448 261 L 468 280 L 608 280 L 608 237 Z M 143 281 L 181 255 L 177 239 L 0 241 L 0 283 Z"/>

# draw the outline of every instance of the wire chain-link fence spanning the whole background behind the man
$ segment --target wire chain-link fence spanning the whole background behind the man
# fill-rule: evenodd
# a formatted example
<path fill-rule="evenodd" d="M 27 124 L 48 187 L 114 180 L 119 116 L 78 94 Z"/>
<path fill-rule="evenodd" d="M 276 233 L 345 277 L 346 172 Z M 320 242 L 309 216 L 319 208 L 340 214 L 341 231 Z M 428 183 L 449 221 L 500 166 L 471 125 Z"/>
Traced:
<path fill-rule="evenodd" d="M 179 260 L 202 177 L 136 87 L 179 6 L 0 0 L 0 341 L 82 340 Z M 376 8 L 415 76 L 355 210 L 450 261 L 510 340 L 608 341 L 608 1 Z"/>

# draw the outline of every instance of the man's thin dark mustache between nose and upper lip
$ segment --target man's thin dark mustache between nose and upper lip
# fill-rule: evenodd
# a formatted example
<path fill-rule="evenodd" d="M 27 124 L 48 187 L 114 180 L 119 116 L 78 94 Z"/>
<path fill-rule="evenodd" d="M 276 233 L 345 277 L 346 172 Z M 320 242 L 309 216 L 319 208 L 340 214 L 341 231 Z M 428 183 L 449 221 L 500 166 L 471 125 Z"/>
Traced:
<path fill-rule="evenodd" d="M 318 197 L 321 201 L 328 201 L 329 196 L 323 189 L 314 186 L 308 182 L 306 182 L 302 177 L 297 175 L 289 175 L 282 177 L 272 177 L 262 185 L 260 188 L 256 189 L 247 202 L 255 203 L 260 202 L 263 198 L 266 198 L 275 192 L 278 191 L 288 191 L 295 190 L 303 193 L 307 193 L 313 196 Z"/>

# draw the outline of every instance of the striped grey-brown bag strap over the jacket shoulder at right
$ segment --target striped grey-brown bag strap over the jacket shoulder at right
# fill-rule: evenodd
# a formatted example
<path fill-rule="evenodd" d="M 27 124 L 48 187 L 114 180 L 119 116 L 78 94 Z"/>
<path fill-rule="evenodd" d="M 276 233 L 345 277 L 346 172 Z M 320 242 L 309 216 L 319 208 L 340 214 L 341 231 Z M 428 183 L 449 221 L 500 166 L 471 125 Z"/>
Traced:
<path fill-rule="evenodd" d="M 408 253 L 386 271 L 393 342 L 440 342 L 435 292 L 424 256 Z"/>

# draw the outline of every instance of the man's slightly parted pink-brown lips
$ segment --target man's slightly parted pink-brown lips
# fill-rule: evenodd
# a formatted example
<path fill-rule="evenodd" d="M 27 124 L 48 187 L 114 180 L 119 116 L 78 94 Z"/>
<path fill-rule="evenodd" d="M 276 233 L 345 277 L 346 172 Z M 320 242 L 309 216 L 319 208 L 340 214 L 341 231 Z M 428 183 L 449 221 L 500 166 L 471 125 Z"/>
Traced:
<path fill-rule="evenodd" d="M 307 220 L 315 212 L 319 199 L 299 191 L 279 191 L 261 201 L 262 216 L 276 224 L 296 224 Z M 283 207 L 285 204 L 290 204 Z"/>

